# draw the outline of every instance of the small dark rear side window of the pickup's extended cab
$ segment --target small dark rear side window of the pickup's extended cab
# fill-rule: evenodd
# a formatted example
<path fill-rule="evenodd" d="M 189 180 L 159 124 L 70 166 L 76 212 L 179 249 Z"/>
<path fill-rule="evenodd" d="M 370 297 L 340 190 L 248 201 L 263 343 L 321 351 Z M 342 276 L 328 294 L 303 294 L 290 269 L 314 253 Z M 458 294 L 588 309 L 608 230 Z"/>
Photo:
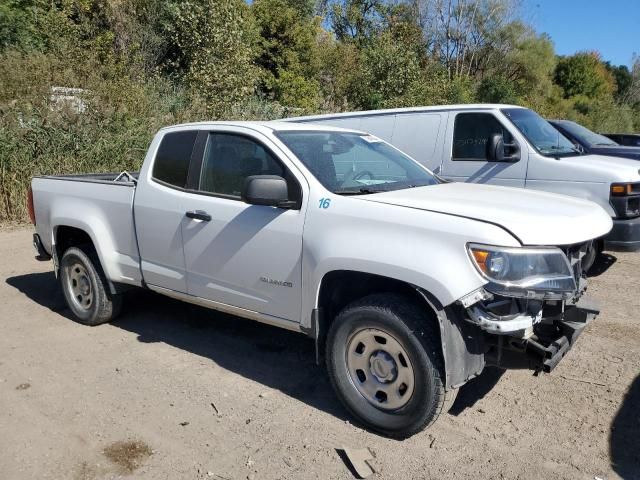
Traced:
<path fill-rule="evenodd" d="M 163 183 L 184 188 L 197 130 L 167 133 L 160 142 L 151 176 Z"/>

